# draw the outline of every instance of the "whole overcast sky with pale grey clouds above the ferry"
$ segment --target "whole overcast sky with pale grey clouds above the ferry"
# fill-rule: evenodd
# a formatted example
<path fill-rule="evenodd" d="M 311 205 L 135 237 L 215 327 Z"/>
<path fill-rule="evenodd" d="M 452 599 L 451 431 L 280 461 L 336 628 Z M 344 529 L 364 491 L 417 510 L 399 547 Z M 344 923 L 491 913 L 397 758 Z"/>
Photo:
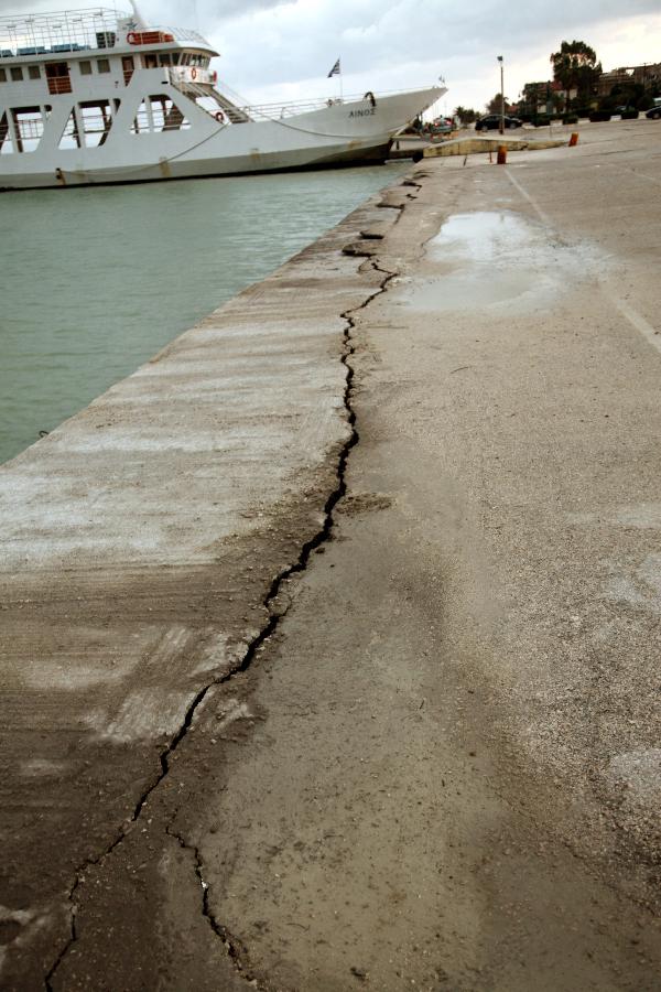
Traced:
<path fill-rule="evenodd" d="M 0 0 L 2 13 L 89 7 L 89 0 Z M 102 4 L 106 6 L 106 4 Z M 111 4 L 108 4 L 111 6 Z M 129 3 L 118 0 L 119 9 Z M 250 100 L 333 95 L 342 57 L 345 94 L 426 86 L 438 76 L 442 109 L 483 109 L 500 87 L 516 100 L 550 77 L 561 41 L 596 48 L 604 69 L 661 62 L 659 0 L 139 0 L 156 24 L 197 28 L 221 53 L 220 80 Z M 622 11 L 626 10 L 626 14 Z"/>

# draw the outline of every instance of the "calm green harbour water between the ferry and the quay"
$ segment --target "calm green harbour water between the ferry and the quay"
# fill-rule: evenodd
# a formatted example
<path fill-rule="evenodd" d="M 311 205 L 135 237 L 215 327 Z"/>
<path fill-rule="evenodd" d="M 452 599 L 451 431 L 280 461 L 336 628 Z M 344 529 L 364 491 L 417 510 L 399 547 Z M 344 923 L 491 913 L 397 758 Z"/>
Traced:
<path fill-rule="evenodd" d="M 0 195 L 0 462 L 407 166 Z"/>

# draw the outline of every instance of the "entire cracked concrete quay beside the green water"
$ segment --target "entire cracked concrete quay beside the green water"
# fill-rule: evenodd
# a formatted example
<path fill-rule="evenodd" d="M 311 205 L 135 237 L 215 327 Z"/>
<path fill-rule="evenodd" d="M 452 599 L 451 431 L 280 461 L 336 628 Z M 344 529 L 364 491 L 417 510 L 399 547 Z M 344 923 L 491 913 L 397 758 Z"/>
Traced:
<path fill-rule="evenodd" d="M 3 988 L 661 989 L 659 137 L 425 160 L 0 470 Z"/>

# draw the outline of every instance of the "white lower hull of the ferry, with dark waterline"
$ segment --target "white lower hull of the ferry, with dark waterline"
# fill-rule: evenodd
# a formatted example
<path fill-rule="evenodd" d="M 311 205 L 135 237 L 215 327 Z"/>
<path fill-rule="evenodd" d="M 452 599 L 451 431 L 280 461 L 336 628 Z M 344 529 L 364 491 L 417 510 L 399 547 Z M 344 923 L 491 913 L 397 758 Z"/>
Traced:
<path fill-rule="evenodd" d="M 209 117 L 198 128 L 176 134 L 130 134 L 127 128 L 121 143 L 52 149 L 51 154 L 44 149 L 21 157 L 1 155 L 0 188 L 136 183 L 382 162 L 398 131 L 434 103 L 440 91 L 381 97 L 373 108 L 369 100 L 338 103 L 283 120 L 218 126 Z M 368 116 L 350 116 L 365 111 Z M 118 119 L 116 127 L 120 126 Z"/>

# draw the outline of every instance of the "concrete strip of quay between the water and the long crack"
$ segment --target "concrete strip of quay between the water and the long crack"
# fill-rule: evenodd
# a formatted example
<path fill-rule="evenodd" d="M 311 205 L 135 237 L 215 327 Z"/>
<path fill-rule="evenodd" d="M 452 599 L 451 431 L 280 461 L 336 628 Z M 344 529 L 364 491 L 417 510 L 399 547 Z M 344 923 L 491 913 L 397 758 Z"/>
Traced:
<path fill-rule="evenodd" d="M 8 988 L 56 984 L 87 872 L 144 821 L 209 688 L 250 665 L 327 533 L 355 440 L 342 311 L 383 281 L 339 249 L 376 205 L 0 473 L 2 892 L 29 907 L 9 909 Z"/>

